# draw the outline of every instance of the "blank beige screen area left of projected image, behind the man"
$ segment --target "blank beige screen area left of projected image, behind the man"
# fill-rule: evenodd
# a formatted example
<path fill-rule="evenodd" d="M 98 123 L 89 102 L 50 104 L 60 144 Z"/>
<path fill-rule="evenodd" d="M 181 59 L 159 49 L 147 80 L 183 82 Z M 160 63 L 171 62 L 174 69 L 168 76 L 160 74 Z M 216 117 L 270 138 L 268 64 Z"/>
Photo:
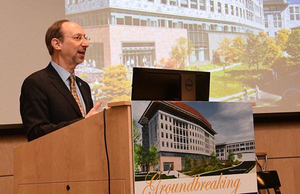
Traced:
<path fill-rule="evenodd" d="M 20 87 L 50 60 L 44 35 L 63 19 L 64 0 L 6 0 L 1 3 L 0 125 L 21 123 Z"/>

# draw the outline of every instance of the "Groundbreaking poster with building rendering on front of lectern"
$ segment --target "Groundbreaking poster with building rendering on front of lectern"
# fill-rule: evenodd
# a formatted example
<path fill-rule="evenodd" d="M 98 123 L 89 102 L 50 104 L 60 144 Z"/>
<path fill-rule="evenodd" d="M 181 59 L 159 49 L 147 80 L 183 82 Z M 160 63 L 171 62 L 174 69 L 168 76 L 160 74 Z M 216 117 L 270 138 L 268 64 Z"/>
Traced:
<path fill-rule="evenodd" d="M 135 194 L 257 192 L 250 103 L 132 101 Z"/>

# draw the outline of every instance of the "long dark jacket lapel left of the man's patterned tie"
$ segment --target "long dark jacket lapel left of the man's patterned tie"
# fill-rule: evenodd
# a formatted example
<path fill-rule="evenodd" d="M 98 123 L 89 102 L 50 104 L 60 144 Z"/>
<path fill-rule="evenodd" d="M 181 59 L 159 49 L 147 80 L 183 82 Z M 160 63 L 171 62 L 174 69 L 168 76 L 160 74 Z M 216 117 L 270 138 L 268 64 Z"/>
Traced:
<path fill-rule="evenodd" d="M 72 96 L 71 92 L 66 87 L 65 83 L 62 81 L 54 67 L 49 63 L 46 67 L 46 71 L 48 72 L 48 76 L 51 79 L 51 83 L 54 87 L 65 97 L 65 99 L 71 104 L 74 110 L 77 112 L 78 116 L 82 117 L 79 106 Z"/>

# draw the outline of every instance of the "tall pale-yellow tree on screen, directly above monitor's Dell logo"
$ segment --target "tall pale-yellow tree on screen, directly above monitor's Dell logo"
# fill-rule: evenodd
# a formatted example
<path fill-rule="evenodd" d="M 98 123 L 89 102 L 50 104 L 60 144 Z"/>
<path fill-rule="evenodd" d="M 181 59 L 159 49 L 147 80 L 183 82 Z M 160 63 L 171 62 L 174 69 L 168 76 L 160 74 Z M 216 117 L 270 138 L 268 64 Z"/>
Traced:
<path fill-rule="evenodd" d="M 176 39 L 175 45 L 172 46 L 170 59 L 175 60 L 181 69 L 186 65 L 186 60 L 189 54 L 194 50 L 192 42 L 185 37 Z"/>

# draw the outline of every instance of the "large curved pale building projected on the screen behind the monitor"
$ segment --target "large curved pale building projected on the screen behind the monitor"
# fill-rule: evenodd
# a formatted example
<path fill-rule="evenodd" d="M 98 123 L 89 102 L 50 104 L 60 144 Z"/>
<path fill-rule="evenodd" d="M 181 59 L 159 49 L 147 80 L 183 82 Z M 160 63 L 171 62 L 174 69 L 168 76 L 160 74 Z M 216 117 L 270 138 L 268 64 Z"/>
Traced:
<path fill-rule="evenodd" d="M 179 37 L 190 39 L 188 62 L 211 61 L 224 37 L 264 29 L 262 0 L 66 0 L 66 16 L 91 37 L 86 58 L 97 68 L 155 66 Z"/>

